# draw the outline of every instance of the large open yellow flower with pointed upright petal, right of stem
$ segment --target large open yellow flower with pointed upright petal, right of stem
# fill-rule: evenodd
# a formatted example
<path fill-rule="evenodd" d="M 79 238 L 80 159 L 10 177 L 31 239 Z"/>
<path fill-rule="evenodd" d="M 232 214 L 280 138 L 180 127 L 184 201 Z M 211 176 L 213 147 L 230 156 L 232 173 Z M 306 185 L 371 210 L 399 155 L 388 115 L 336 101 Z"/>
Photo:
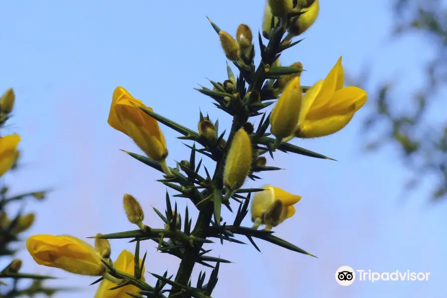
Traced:
<path fill-rule="evenodd" d="M 355 86 L 343 87 L 341 62 L 342 57 L 326 78 L 315 83 L 302 97 L 296 137 L 317 138 L 338 132 L 367 101 L 365 90 Z"/>

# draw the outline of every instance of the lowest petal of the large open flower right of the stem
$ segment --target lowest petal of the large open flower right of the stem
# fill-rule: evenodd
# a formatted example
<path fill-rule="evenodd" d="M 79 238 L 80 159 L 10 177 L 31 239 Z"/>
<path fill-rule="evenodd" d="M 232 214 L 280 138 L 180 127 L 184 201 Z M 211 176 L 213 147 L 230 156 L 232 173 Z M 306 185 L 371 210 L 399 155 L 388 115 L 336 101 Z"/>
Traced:
<path fill-rule="evenodd" d="M 327 118 L 317 120 L 305 120 L 297 130 L 297 138 L 318 138 L 332 135 L 344 128 L 352 119 L 355 113 L 355 106 L 344 115 L 332 115 Z"/>

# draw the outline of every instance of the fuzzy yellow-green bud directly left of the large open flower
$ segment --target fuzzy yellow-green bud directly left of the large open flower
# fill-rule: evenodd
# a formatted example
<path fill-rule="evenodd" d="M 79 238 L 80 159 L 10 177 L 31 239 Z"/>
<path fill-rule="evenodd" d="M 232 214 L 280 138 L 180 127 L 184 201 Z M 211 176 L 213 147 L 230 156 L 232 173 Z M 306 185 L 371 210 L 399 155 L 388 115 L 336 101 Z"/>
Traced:
<path fill-rule="evenodd" d="M 282 140 L 292 135 L 297 127 L 302 89 L 299 76 L 284 89 L 270 116 L 271 133 Z"/>

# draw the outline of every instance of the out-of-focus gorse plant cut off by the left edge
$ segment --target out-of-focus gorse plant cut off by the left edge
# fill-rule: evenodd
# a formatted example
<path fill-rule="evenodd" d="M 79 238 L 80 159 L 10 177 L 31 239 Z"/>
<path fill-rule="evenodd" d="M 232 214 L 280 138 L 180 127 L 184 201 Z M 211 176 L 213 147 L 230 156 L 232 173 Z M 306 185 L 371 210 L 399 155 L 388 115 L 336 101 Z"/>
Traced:
<path fill-rule="evenodd" d="M 24 214 L 23 210 L 19 209 L 11 216 L 11 205 L 30 197 L 43 200 L 46 196 L 46 191 L 10 195 L 9 188 L 4 182 L 4 175 L 7 172 L 19 168 L 20 154 L 17 146 L 20 143 L 20 136 L 2 134 L 14 110 L 14 103 L 15 93 L 12 88 L 9 88 L 0 98 L 0 262 L 7 264 L 6 267 L 0 269 L 0 297 L 31 297 L 36 294 L 50 296 L 63 289 L 44 287 L 42 281 L 52 277 L 22 273 L 22 261 L 14 258 L 17 252 L 14 245 L 21 240 L 22 233 L 32 226 L 35 214 Z M 19 284 L 20 280 L 29 280 L 29 285 L 23 287 L 23 284 Z"/>

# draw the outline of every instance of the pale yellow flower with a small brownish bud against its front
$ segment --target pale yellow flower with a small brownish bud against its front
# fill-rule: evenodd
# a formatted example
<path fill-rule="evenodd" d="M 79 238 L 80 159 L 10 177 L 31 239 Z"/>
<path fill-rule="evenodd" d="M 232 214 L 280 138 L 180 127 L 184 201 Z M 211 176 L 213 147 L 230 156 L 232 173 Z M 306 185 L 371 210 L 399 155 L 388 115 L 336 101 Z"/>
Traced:
<path fill-rule="evenodd" d="M 255 223 L 254 227 L 265 224 L 266 229 L 270 230 L 294 216 L 293 205 L 297 204 L 301 197 L 272 185 L 262 188 L 264 190 L 255 193 L 251 200 L 251 221 Z"/>

